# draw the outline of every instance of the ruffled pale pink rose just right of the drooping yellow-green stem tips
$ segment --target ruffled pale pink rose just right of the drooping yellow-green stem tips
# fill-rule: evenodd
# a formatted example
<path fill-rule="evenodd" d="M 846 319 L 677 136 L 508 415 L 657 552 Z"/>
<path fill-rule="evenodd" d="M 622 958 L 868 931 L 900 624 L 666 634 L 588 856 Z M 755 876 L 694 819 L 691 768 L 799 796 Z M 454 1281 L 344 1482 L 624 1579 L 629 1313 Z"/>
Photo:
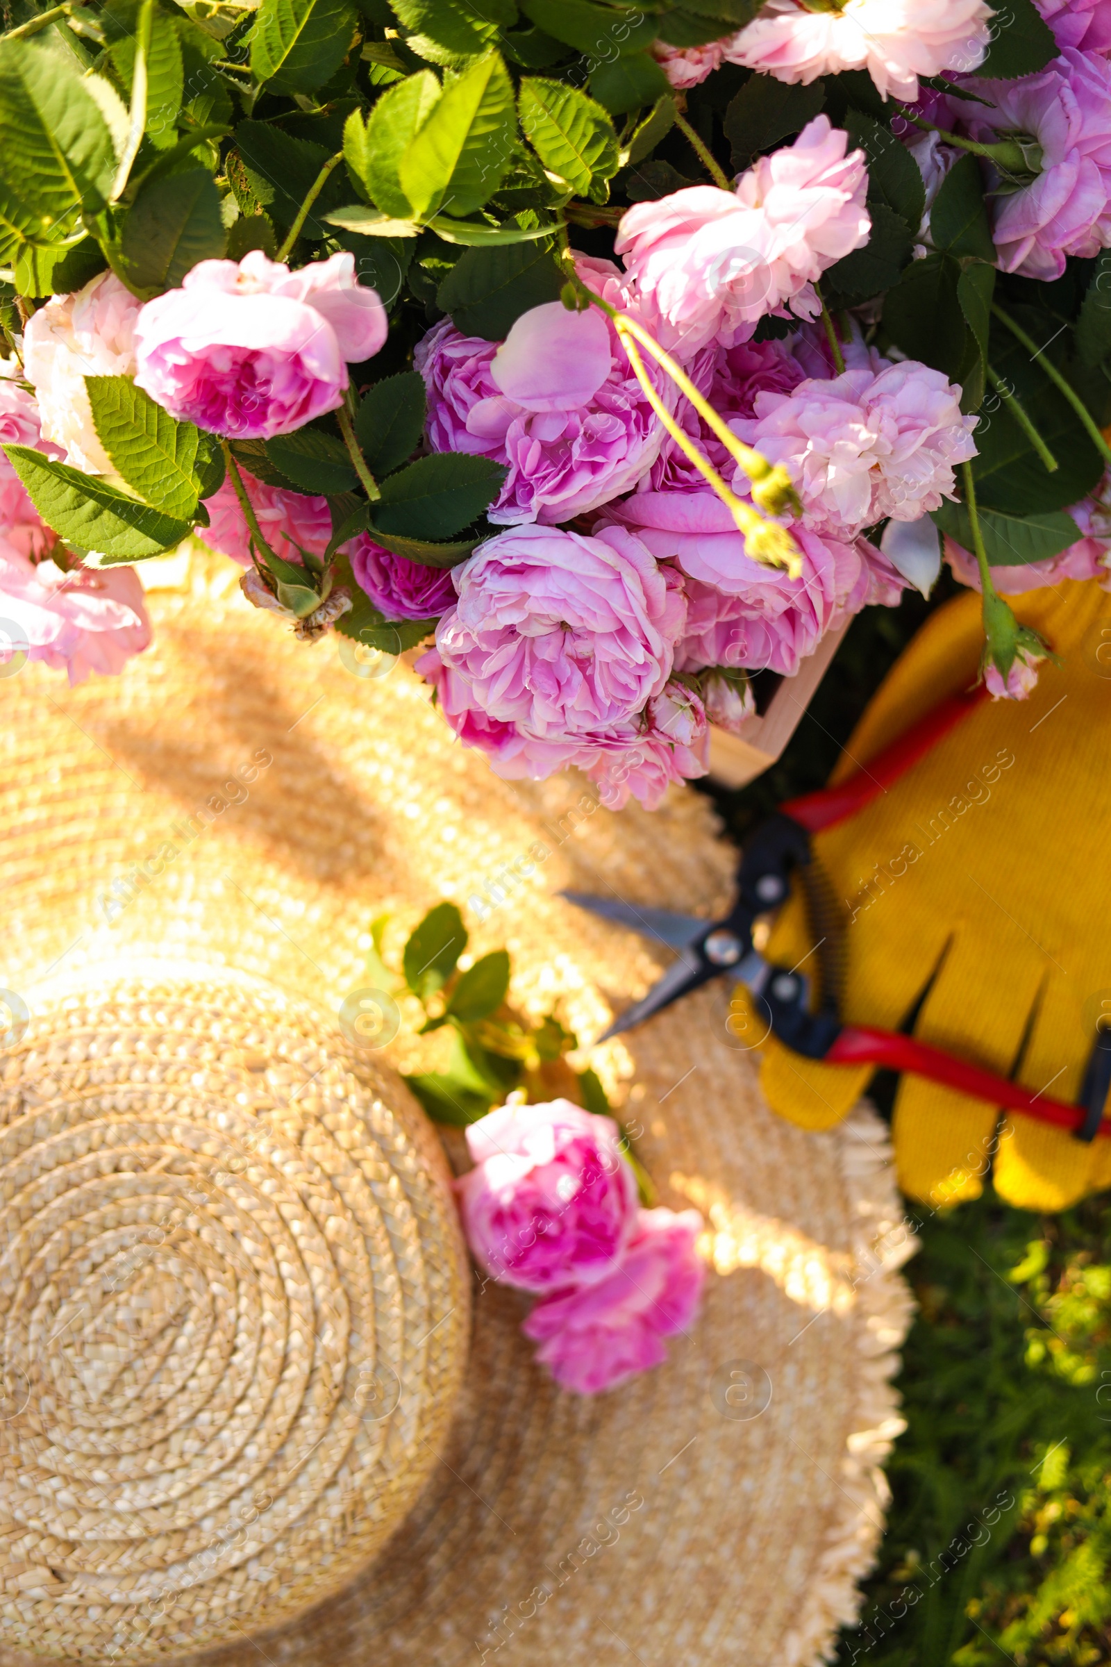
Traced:
<path fill-rule="evenodd" d="M 815 532 L 854 538 L 884 517 L 919 520 L 956 495 L 958 463 L 976 455 L 976 417 L 939 370 L 904 360 L 758 393 L 756 417 L 733 430 L 771 463 L 783 463 Z M 735 490 L 748 487 L 738 475 Z"/>

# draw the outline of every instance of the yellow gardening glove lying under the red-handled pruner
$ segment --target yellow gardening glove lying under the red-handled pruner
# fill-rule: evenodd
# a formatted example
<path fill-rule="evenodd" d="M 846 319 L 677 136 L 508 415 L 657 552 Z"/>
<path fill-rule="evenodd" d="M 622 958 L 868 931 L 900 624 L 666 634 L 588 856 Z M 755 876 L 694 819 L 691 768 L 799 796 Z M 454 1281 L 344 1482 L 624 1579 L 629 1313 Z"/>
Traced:
<path fill-rule="evenodd" d="M 1098 1025 L 1111 1024 L 1111 597 L 1061 582 L 1011 598 L 1059 655 L 1024 702 L 984 700 L 886 792 L 813 837 L 844 902 L 844 1024 L 908 1027 L 1054 1100 L 1079 1097 Z M 939 608 L 894 665 L 833 782 L 868 768 L 939 700 L 976 682 L 979 597 Z M 815 969 L 801 892 L 766 955 Z M 753 1024 L 756 1015 L 753 1014 Z M 758 1025 L 763 1029 L 763 1025 Z M 771 1105 L 806 1129 L 838 1122 L 874 1067 L 765 1044 Z M 904 1075 L 894 1104 L 899 1185 L 934 1205 L 996 1190 L 1058 1210 L 1111 1185 L 1111 1140 Z"/>

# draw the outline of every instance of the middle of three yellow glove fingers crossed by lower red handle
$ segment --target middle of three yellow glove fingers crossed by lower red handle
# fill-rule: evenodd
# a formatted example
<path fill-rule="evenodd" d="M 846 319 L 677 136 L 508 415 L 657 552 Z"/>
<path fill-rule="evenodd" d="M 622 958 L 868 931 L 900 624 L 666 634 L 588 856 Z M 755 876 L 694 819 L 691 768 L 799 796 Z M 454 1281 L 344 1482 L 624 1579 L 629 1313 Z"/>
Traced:
<path fill-rule="evenodd" d="M 923 1002 L 914 1035 L 1008 1075 L 1044 982 L 1038 960 L 996 967 L 956 937 Z M 996 1157 L 999 1109 L 924 1077 L 904 1075 L 894 1102 L 894 1160 L 903 1192 L 941 1209 L 978 1199 Z"/>

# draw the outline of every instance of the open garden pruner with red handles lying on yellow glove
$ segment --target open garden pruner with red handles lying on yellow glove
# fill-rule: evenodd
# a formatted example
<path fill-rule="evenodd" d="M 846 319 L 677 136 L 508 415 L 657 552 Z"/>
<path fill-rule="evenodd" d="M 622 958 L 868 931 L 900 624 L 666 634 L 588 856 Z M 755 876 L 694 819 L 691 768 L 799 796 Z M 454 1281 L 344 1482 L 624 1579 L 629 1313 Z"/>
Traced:
<path fill-rule="evenodd" d="M 598 1040 L 606 1042 L 645 1024 L 711 979 L 730 977 L 748 989 L 771 1034 L 806 1059 L 826 1065 L 876 1065 L 894 1072 L 913 1072 L 946 1089 L 986 1100 L 989 1105 L 1024 1112 L 1039 1122 L 1066 1129 L 1079 1140 L 1111 1135 L 1111 1122 L 1103 1115 L 1111 1087 L 1111 1034 L 1106 1030 L 1096 1032 L 1079 1102 L 1069 1105 L 1034 1094 L 1008 1077 L 999 1077 L 903 1032 L 849 1025 L 841 1020 L 844 925 L 838 900 L 831 895 L 830 882 L 815 859 L 811 834 L 843 820 L 886 790 L 889 782 L 909 768 L 979 698 L 979 690 L 954 695 L 879 758 L 869 762 L 868 772 L 861 777 L 781 805 L 746 842 L 733 907 L 720 920 L 646 909 L 616 897 L 563 892 L 563 897 L 580 909 L 588 909 L 603 920 L 613 920 L 676 950 L 675 962 L 651 990 L 615 1019 Z M 753 942 L 760 917 L 786 902 L 793 875 L 798 875 L 803 885 L 810 927 L 816 939 L 811 950 L 821 974 L 816 1004 L 813 979 L 800 970 L 803 964 L 776 967 L 765 960 Z"/>

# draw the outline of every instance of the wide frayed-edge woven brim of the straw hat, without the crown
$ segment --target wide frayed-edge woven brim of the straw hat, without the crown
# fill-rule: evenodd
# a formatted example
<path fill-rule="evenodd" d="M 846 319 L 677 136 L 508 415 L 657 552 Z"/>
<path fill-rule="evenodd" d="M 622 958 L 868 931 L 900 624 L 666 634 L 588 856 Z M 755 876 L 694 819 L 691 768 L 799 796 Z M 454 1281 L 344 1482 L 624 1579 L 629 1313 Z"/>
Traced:
<path fill-rule="evenodd" d="M 72 972 L 153 949 L 335 1014 L 368 982 L 371 919 L 390 912 L 393 950 L 451 897 L 475 954 L 510 949 L 515 1005 L 556 1005 L 590 1039 L 668 955 L 556 892 L 700 914 L 728 899 L 735 852 L 703 797 L 611 815 L 571 777 L 500 782 L 403 665 L 353 675 L 335 638 L 295 643 L 225 573 L 195 560 L 185 590 L 152 593 L 155 647 L 118 680 L 67 692 L 27 667 L 0 683 L 12 989 L 60 957 Z M 247 797 L 222 793 L 257 753 L 273 762 Z M 177 855 L 107 924 L 113 880 L 165 844 Z M 455 1427 L 405 1525 L 338 1599 L 213 1667 L 260 1650 L 450 1667 L 498 1645 L 536 1667 L 823 1657 L 881 1532 L 911 1240 L 878 1119 L 825 1135 L 776 1119 L 728 999 L 708 987 L 591 1055 L 661 1202 L 708 1222 L 703 1310 L 668 1364 L 603 1397 L 556 1392 L 518 1334 L 528 1305 L 476 1290 Z M 425 1049 L 403 1027 L 381 1057 Z"/>

